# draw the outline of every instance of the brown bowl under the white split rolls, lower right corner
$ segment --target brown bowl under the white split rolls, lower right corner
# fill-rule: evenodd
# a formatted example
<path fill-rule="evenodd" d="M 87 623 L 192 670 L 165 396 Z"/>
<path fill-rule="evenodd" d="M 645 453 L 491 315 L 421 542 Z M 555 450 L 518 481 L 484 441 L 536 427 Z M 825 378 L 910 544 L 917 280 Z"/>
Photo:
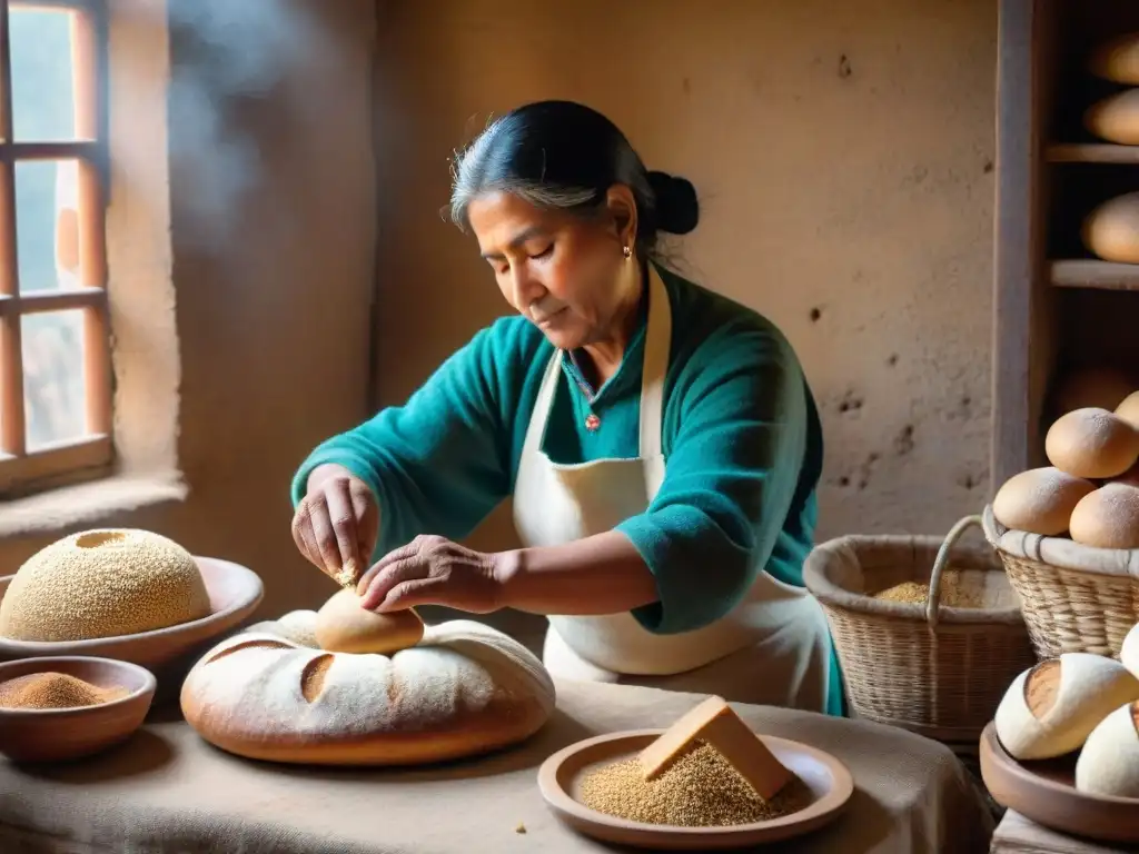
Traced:
<path fill-rule="evenodd" d="M 981 777 L 998 804 L 1063 834 L 1139 843 L 1139 799 L 1076 791 L 1076 755 L 1022 763 L 1005 750 L 992 723 L 981 733 Z"/>

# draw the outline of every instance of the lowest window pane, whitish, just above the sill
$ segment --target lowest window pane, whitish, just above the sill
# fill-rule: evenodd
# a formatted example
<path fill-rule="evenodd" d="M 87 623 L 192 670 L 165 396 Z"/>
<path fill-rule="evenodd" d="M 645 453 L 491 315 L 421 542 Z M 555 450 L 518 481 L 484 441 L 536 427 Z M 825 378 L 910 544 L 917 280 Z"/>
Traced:
<path fill-rule="evenodd" d="M 83 310 L 27 314 L 21 323 L 27 450 L 82 438 L 87 433 Z"/>

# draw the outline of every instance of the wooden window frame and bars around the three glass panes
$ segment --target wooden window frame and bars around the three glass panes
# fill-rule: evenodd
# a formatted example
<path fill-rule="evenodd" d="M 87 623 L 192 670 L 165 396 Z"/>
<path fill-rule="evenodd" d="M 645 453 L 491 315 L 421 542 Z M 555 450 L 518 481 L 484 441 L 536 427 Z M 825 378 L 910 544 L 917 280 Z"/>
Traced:
<path fill-rule="evenodd" d="M 75 140 L 13 139 L 9 10 L 73 13 Z M 103 0 L 0 0 L 0 501 L 101 477 L 114 459 L 106 208 L 109 156 L 106 109 L 107 15 Z M 16 254 L 16 164 L 77 164 L 79 287 L 19 293 Z M 28 452 L 21 319 L 82 310 L 85 435 Z"/>

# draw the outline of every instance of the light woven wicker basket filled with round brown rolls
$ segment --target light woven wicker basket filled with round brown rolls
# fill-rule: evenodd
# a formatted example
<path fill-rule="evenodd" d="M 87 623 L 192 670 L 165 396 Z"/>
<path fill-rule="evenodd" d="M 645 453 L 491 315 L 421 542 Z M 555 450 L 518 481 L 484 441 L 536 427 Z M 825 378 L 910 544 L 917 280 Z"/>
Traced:
<path fill-rule="evenodd" d="M 1009 531 L 984 510 L 985 537 L 1021 596 L 1039 658 L 1095 652 L 1118 658 L 1139 623 L 1139 549 L 1093 549 Z"/>

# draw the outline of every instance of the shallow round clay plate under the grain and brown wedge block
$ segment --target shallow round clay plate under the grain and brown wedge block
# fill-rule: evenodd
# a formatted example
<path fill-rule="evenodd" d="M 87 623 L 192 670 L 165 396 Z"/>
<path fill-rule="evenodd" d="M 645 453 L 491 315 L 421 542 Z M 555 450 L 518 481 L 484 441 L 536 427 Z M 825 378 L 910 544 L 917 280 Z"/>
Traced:
<path fill-rule="evenodd" d="M 546 803 L 577 832 L 615 845 L 640 848 L 710 851 L 772 843 L 802 836 L 838 816 L 854 791 L 850 771 L 838 759 L 813 747 L 773 736 L 763 742 L 806 783 L 814 796 L 798 812 L 770 821 L 713 828 L 642 824 L 591 810 L 579 800 L 582 780 L 599 765 L 632 758 L 664 730 L 634 730 L 597 736 L 559 750 L 538 772 Z"/>

